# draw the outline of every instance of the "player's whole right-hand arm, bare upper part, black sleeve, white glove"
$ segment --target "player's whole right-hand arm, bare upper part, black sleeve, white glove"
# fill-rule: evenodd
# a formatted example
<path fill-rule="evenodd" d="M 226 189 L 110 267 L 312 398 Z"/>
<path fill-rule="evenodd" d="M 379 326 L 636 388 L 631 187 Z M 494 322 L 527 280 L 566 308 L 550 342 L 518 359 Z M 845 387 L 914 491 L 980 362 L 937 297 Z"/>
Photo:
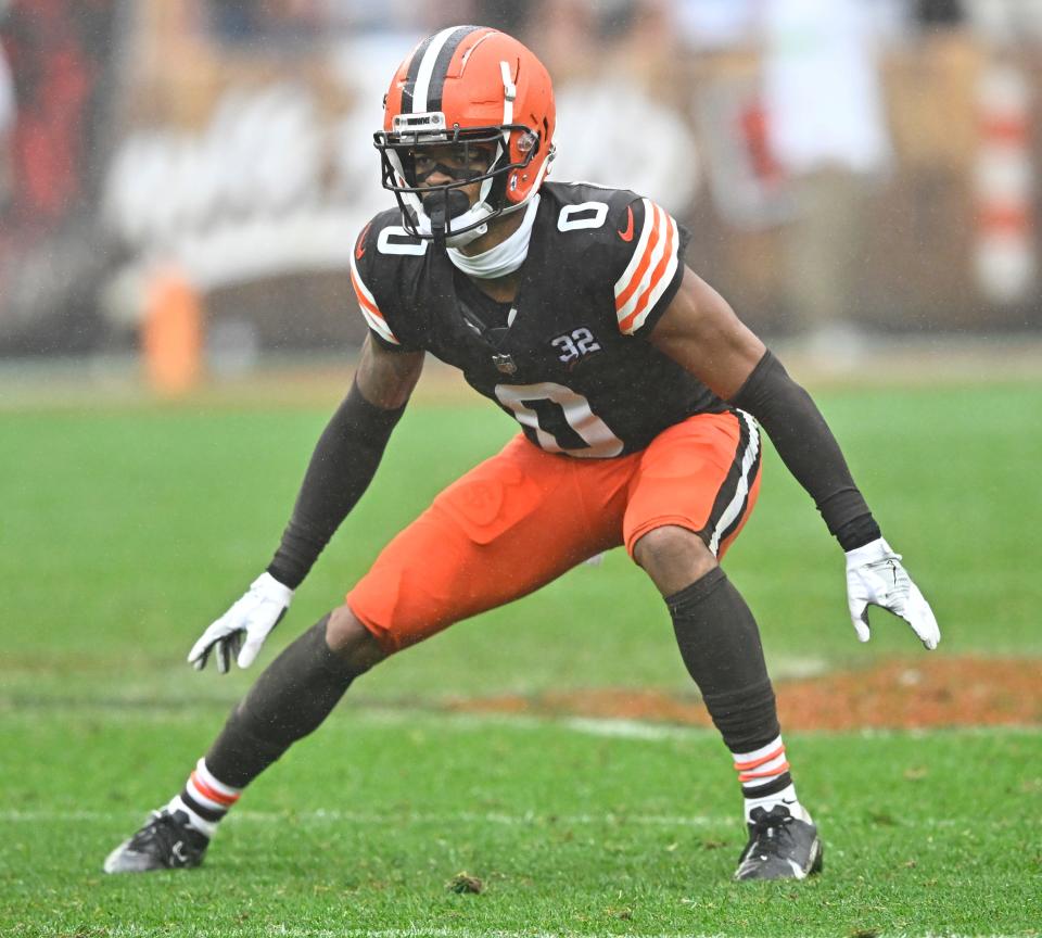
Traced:
<path fill-rule="evenodd" d="M 882 538 L 825 418 L 727 302 L 686 269 L 651 342 L 767 431 L 847 553 L 848 604 L 857 637 L 868 641 L 867 610 L 875 605 L 900 616 L 924 646 L 936 648 L 941 636 L 933 612 Z"/>

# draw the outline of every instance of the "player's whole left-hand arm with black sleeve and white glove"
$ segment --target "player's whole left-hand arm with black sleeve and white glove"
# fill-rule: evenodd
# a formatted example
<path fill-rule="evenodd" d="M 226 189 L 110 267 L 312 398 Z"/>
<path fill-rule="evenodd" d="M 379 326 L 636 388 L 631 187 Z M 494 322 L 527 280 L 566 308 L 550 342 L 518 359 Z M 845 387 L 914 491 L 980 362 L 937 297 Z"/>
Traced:
<path fill-rule="evenodd" d="M 196 669 L 212 652 L 223 674 L 232 657 L 240 668 L 253 663 L 293 591 L 372 481 L 422 367 L 422 352 L 387 352 L 366 341 L 351 393 L 318 440 L 275 558 L 192 646 L 188 660 Z"/>

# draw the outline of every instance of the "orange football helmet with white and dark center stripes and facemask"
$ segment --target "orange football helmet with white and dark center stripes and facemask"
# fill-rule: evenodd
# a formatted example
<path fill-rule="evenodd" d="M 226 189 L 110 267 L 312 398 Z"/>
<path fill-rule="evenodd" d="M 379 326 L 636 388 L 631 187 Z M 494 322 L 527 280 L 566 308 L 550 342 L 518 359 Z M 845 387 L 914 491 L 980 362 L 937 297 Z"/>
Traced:
<path fill-rule="evenodd" d="M 383 130 L 373 135 L 383 187 L 420 238 L 460 246 L 480 237 L 491 218 L 531 201 L 554 159 L 550 76 L 496 29 L 453 26 L 429 36 L 398 66 L 383 103 Z M 433 169 L 452 181 L 425 185 Z M 471 205 L 459 190 L 478 181 Z"/>

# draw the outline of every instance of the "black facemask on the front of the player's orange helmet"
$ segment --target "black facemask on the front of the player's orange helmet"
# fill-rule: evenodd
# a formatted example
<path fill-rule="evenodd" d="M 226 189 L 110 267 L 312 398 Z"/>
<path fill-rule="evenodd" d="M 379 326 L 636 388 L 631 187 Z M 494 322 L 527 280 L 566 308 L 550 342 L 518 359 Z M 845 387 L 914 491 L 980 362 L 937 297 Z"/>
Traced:
<path fill-rule="evenodd" d="M 511 199 L 508 186 L 541 148 L 538 135 L 523 124 L 448 129 L 442 112 L 396 115 L 392 129 L 374 134 L 373 143 L 383 188 L 394 192 L 403 227 L 452 248 L 480 238 L 491 219 L 529 201 Z M 435 172 L 452 181 L 427 185 Z M 471 204 L 463 190 L 474 183 L 479 189 Z"/>

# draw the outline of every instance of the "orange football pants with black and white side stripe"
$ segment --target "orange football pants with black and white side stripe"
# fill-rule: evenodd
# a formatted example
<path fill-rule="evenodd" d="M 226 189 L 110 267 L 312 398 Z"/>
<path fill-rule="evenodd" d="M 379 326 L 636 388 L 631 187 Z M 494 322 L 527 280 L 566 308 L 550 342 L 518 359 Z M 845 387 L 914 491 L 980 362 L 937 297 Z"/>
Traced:
<path fill-rule="evenodd" d="M 699 414 L 610 459 L 546 453 L 523 435 L 454 482 L 383 549 L 347 605 L 390 652 L 503 606 L 655 528 L 723 557 L 760 490 L 747 415 Z"/>

